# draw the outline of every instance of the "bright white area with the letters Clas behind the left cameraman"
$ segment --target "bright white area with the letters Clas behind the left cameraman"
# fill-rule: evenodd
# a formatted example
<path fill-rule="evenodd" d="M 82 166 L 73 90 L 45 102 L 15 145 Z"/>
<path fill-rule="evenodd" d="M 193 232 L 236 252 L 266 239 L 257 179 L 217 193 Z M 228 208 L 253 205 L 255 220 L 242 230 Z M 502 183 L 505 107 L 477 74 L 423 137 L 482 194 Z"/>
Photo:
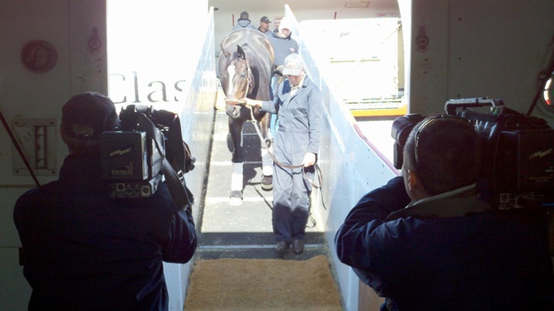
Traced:
<path fill-rule="evenodd" d="M 194 72 L 205 16 L 190 6 L 204 1 L 107 1 L 109 97 L 116 104 L 175 110 L 183 103 Z M 185 9 L 186 8 L 186 9 Z"/>

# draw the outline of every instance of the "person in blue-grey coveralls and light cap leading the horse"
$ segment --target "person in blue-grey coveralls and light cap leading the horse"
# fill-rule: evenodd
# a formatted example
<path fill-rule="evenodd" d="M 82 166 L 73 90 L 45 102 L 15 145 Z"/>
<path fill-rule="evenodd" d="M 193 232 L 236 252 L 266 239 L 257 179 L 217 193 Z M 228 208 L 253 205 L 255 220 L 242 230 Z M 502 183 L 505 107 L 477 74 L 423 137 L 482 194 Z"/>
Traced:
<path fill-rule="evenodd" d="M 320 90 L 305 73 L 305 63 L 298 54 L 285 58 L 283 75 L 288 80 L 278 87 L 273 102 L 246 99 L 250 106 L 277 114 L 280 121 L 273 138 L 273 150 L 278 161 L 273 163 L 273 232 L 276 251 L 304 251 L 304 235 L 310 208 L 317 153 L 320 149 L 322 101 Z M 303 165 L 303 168 L 288 168 Z M 305 170 L 305 174 L 303 174 Z"/>

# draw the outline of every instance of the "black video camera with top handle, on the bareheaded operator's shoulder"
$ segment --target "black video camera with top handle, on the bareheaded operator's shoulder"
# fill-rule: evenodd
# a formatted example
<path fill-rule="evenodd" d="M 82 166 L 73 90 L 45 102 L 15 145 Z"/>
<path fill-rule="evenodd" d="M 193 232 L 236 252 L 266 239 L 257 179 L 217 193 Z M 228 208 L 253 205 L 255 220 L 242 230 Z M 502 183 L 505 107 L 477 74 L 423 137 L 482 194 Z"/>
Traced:
<path fill-rule="evenodd" d="M 472 110 L 489 106 L 488 113 Z M 499 208 L 554 200 L 554 130 L 544 119 L 525 116 L 506 108 L 501 99 L 487 97 L 451 99 L 445 111 L 471 121 L 481 138 L 478 188 L 485 200 Z M 402 168 L 406 139 L 423 119 L 408 114 L 393 121 L 395 168 Z"/>

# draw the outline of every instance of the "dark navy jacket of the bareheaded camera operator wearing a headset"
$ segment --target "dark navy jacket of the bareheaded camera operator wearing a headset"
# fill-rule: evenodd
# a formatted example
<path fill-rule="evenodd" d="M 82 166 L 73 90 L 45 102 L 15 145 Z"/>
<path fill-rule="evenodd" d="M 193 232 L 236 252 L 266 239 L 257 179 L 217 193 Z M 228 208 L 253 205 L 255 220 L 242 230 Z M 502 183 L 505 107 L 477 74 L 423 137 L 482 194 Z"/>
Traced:
<path fill-rule="evenodd" d="M 487 212 L 465 193 L 404 208 L 410 198 L 393 178 L 349 212 L 338 258 L 389 310 L 554 310 L 543 212 Z"/>

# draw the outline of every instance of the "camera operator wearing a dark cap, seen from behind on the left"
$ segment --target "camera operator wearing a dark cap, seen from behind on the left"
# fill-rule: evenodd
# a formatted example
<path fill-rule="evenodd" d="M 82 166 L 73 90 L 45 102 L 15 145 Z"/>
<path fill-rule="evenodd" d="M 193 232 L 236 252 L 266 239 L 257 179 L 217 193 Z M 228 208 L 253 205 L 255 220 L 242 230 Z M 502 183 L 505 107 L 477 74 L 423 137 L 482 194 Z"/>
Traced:
<path fill-rule="evenodd" d="M 70 154 L 59 180 L 16 202 L 29 310 L 168 310 L 162 261 L 192 258 L 191 207 L 178 207 L 163 183 L 148 198 L 110 198 L 99 134 L 118 123 L 103 94 L 71 97 L 61 124 Z"/>

